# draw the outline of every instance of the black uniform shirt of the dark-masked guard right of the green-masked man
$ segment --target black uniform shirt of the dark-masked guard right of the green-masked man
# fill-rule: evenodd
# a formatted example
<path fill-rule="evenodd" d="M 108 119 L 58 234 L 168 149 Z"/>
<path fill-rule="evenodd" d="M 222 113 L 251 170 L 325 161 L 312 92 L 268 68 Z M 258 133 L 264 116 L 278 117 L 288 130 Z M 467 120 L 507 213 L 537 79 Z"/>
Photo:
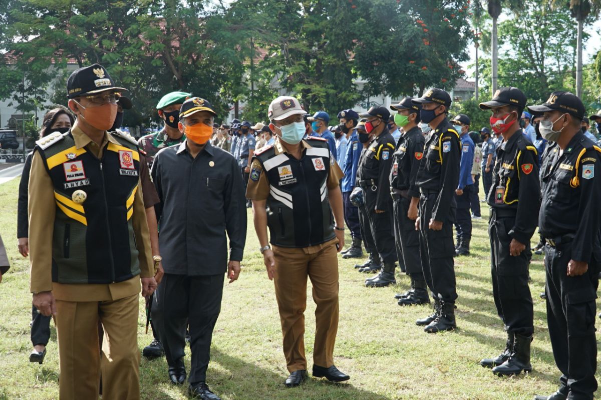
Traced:
<path fill-rule="evenodd" d="M 455 204 L 460 161 L 459 133 L 445 118 L 426 140 L 415 182 L 421 190 L 438 192 L 432 209 L 435 221 L 446 221 Z"/>

